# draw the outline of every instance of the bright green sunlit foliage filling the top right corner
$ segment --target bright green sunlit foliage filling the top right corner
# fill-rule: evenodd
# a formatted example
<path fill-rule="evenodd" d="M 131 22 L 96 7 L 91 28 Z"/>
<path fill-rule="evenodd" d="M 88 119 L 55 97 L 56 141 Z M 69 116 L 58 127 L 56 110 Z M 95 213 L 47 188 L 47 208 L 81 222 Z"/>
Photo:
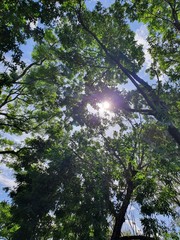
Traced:
<path fill-rule="evenodd" d="M 127 4 L 125 4 L 127 5 Z M 179 79 L 179 1 L 132 1 L 127 13 L 132 20 L 142 21 L 149 29 L 149 52 L 153 58 L 150 68 L 154 77 L 165 73 L 169 81 Z"/>

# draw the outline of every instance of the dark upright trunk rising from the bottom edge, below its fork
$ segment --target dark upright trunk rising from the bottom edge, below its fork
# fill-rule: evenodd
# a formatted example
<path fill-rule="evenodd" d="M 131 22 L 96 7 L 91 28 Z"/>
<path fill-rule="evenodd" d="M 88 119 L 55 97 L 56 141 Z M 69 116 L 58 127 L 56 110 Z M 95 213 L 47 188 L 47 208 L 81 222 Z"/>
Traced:
<path fill-rule="evenodd" d="M 119 240 L 121 235 L 121 228 L 123 223 L 125 222 L 125 215 L 127 212 L 127 208 L 129 206 L 131 196 L 133 193 L 133 182 L 131 180 L 128 181 L 128 187 L 127 187 L 127 193 L 124 198 L 123 204 L 119 210 L 119 213 L 117 214 L 115 218 L 115 225 L 113 229 L 113 233 L 111 236 L 111 240 Z"/>

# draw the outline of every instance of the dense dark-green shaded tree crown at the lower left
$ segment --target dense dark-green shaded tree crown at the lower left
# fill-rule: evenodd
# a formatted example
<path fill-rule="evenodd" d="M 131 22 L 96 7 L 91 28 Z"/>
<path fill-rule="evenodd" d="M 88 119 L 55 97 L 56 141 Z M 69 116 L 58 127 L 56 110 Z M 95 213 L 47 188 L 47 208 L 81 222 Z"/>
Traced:
<path fill-rule="evenodd" d="M 100 191 L 99 196 L 95 194 L 92 182 L 98 183 L 98 178 L 94 176 L 91 179 L 94 169 L 89 175 L 86 164 L 81 163 L 81 168 L 86 168 L 83 173 L 87 177 L 82 175 L 78 166 L 80 162 L 68 147 L 68 135 L 59 130 L 59 125 L 49 129 L 47 141 L 40 138 L 31 140 L 29 148 L 21 151 L 13 164 L 18 187 L 11 192 L 12 209 L 14 222 L 20 226 L 13 239 L 48 239 L 50 236 L 55 239 L 92 239 L 93 231 L 95 239 L 105 235 L 107 220 L 102 201 L 105 201 L 106 193 Z M 86 187 L 82 186 L 82 178 Z M 96 208 L 93 205 L 97 205 Z M 102 216 L 99 215 L 100 208 Z"/>

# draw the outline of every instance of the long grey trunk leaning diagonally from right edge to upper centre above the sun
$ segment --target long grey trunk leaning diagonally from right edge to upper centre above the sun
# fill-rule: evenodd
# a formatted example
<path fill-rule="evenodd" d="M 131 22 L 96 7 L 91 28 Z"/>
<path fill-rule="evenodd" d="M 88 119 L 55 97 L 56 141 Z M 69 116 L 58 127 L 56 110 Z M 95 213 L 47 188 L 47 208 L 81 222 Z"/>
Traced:
<path fill-rule="evenodd" d="M 116 11 L 120 13 L 121 5 L 119 5 L 118 1 L 115 3 L 114 8 L 115 8 L 115 13 Z M 134 68 L 129 69 L 125 67 L 121 58 L 120 57 L 117 58 L 116 56 L 114 56 L 112 52 L 109 50 L 109 48 L 103 43 L 103 40 L 100 40 L 98 38 L 98 35 L 92 29 L 90 29 L 90 27 L 87 27 L 87 25 L 85 24 L 82 18 L 82 13 L 80 11 L 78 13 L 79 14 L 78 19 L 82 24 L 83 29 L 87 31 L 96 40 L 96 42 L 100 45 L 102 50 L 105 52 L 106 56 L 109 57 L 117 65 L 120 71 L 123 74 L 125 74 L 127 78 L 130 79 L 130 81 L 137 88 L 137 91 L 143 96 L 148 106 L 152 109 L 153 115 L 155 116 L 155 118 L 158 121 L 164 122 L 167 125 L 167 129 L 170 135 L 179 144 L 180 134 L 178 129 L 173 125 L 170 118 L 168 117 L 168 114 L 167 114 L 168 108 L 166 104 L 161 101 L 159 96 L 155 93 L 154 89 L 152 89 L 152 87 L 147 82 L 145 82 L 143 79 L 139 78 L 138 75 L 136 75 Z M 121 10 L 121 13 L 122 13 L 122 10 Z M 127 57 L 124 53 L 122 54 L 124 58 Z"/>

